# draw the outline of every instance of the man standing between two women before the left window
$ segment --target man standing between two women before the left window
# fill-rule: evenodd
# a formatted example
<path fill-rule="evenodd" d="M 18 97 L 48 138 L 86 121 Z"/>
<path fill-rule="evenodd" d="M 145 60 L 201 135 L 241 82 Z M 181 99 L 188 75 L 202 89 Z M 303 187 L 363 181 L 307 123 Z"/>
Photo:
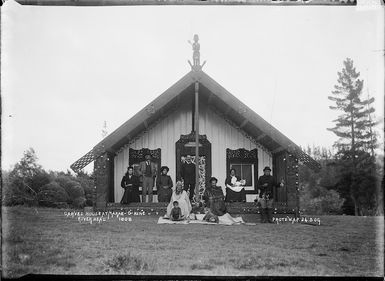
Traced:
<path fill-rule="evenodd" d="M 140 162 L 139 174 L 143 177 L 142 186 L 142 203 L 146 202 L 146 194 L 148 191 L 148 202 L 152 202 L 152 190 L 154 187 L 154 178 L 156 177 L 156 164 L 151 161 L 149 153 L 145 156 L 145 161 Z"/>

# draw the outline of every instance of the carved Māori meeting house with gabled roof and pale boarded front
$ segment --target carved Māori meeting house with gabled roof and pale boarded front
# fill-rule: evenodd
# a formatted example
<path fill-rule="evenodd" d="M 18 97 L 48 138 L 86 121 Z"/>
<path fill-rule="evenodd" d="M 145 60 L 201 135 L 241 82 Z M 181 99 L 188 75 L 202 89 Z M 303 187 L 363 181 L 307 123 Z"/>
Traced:
<path fill-rule="evenodd" d="M 235 168 L 238 176 L 246 180 L 247 202 L 253 202 L 258 177 L 265 166 L 270 166 L 276 180 L 285 182 L 284 187 L 274 191 L 276 208 L 298 211 L 298 165 L 319 169 L 319 164 L 201 68 L 192 68 L 71 168 L 77 172 L 94 161 L 99 209 L 107 203 L 120 202 L 123 195 L 120 181 L 127 167 L 134 166 L 137 172 L 146 153 L 151 154 L 158 167 L 170 168 L 169 175 L 175 184 L 184 156 L 195 156 L 196 119 L 203 188 L 211 176 L 224 187 L 230 169 Z M 156 202 L 156 195 L 154 199 Z"/>

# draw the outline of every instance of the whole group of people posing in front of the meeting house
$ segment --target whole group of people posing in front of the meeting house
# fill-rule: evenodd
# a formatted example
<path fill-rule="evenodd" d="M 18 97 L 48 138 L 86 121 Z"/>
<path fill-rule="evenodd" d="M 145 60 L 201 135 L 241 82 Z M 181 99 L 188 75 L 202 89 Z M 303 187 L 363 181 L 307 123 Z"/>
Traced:
<path fill-rule="evenodd" d="M 255 201 L 261 207 L 261 222 L 272 222 L 273 189 L 274 187 L 283 186 L 284 183 L 283 181 L 279 184 L 276 183 L 274 177 L 270 175 L 270 167 L 265 167 L 263 171 L 264 175 L 258 179 L 257 188 L 259 192 Z M 155 183 L 158 201 L 169 202 L 166 217 L 172 220 L 187 219 L 190 214 L 197 213 L 205 214 L 204 219 L 212 222 L 218 222 L 220 216 L 233 219 L 227 212 L 225 201 L 246 202 L 245 181 L 236 176 L 235 169 L 231 169 L 230 175 L 226 178 L 226 196 L 223 194 L 222 187 L 217 186 L 218 180 L 212 177 L 209 186 L 204 191 L 203 202 L 199 203 L 191 203 L 195 190 L 195 164 L 192 163 L 191 156 L 186 157 L 186 162 L 181 167 L 181 180 L 176 182 L 175 189 L 173 189 L 173 181 L 168 172 L 169 168 L 162 166 L 160 176 L 156 177 L 156 164 L 151 161 L 149 154 L 145 156 L 145 161 L 139 165 L 139 174 L 143 177 L 142 202 L 146 202 L 147 192 L 149 202 L 152 202 Z M 121 181 L 121 187 L 124 189 L 121 204 L 140 202 L 139 186 L 139 177 L 134 175 L 132 166 L 128 167 Z"/>

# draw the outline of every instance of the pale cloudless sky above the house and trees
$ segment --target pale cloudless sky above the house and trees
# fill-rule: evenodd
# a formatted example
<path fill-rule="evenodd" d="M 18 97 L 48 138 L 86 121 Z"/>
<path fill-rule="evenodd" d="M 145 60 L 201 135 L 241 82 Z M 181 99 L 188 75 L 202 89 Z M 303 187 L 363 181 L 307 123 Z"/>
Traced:
<path fill-rule="evenodd" d="M 7 0 L 1 13 L 3 169 L 29 147 L 43 168 L 69 169 L 102 140 L 104 121 L 111 133 L 190 71 L 194 34 L 203 70 L 298 145 L 337 140 L 327 96 L 347 57 L 384 118 L 382 8 Z"/>

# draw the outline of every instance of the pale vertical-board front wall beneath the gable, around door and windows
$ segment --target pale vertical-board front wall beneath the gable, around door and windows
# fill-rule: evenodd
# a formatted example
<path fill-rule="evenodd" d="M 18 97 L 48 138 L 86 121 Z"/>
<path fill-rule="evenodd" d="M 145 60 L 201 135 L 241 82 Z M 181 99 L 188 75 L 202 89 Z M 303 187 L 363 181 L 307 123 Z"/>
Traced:
<path fill-rule="evenodd" d="M 114 199 L 120 202 L 123 189 L 120 186 L 122 177 L 129 166 L 129 148 L 161 149 L 161 164 L 170 168 L 169 175 L 175 185 L 176 156 L 175 143 L 180 135 L 187 135 L 192 130 L 192 106 L 185 103 L 178 110 L 160 120 L 147 132 L 143 132 L 129 146 L 122 149 L 114 158 Z M 258 149 L 258 175 L 263 174 L 265 166 L 272 167 L 272 157 L 269 153 L 257 147 L 239 130 L 229 124 L 206 104 L 200 104 L 199 132 L 206 135 L 211 143 L 212 176 L 218 178 L 218 185 L 224 187 L 226 178 L 226 149 L 244 148 Z M 247 195 L 247 201 L 252 201 L 255 195 Z M 155 197 L 156 198 L 156 197 Z"/>

